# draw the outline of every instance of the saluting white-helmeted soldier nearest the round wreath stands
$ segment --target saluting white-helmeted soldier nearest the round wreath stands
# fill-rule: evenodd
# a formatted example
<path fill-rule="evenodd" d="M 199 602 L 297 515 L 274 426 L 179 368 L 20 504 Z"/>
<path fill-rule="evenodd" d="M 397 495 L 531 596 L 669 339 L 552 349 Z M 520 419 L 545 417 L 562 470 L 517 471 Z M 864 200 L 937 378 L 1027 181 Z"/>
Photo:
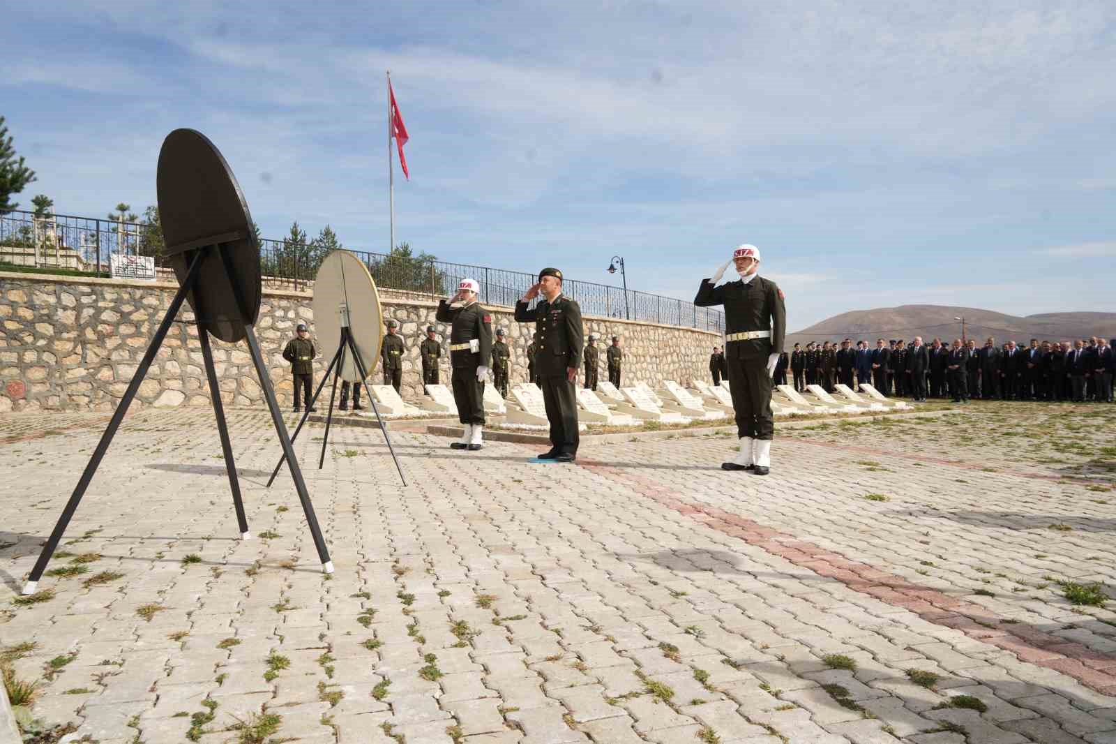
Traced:
<path fill-rule="evenodd" d="M 484 378 L 492 357 L 492 316 L 477 302 L 481 285 L 477 279 L 462 279 L 458 294 L 437 304 L 435 317 L 452 323 L 450 331 L 450 363 L 453 366 L 453 401 L 458 418 L 464 427 L 460 441 L 453 449 L 478 450 L 484 429 Z"/>

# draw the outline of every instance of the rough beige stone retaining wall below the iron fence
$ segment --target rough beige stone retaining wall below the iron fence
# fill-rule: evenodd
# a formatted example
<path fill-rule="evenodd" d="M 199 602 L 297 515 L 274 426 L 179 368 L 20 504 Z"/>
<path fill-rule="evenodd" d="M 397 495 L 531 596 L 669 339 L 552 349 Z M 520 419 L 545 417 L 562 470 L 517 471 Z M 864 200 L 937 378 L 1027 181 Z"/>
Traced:
<path fill-rule="evenodd" d="M 127 389 L 147 349 L 176 284 L 119 279 L 85 279 L 0 271 L 0 413 L 23 410 L 108 411 Z M 263 349 L 280 404 L 291 404 L 290 365 L 282 347 L 298 323 L 314 335 L 310 292 L 264 289 L 256 332 Z M 400 324 L 407 353 L 403 362 L 403 398 L 422 395 L 419 344 L 427 325 L 437 328 L 443 350 L 446 324 L 434 319 L 436 302 L 413 294 L 393 297 L 381 290 L 384 316 Z M 511 381 L 527 380 L 527 345 L 532 327 L 512 317 L 512 308 L 489 306 L 493 331 L 504 328 L 511 346 Z M 193 314 L 183 306 L 181 321 Z M 721 343 L 719 332 L 585 316 L 586 336 L 602 338 L 600 378 L 606 379 L 604 350 L 618 335 L 624 349 L 624 380 L 652 387 L 664 380 L 689 384 L 709 376 L 709 354 Z M 315 382 L 335 350 L 318 350 Z M 222 400 L 230 406 L 262 406 L 263 393 L 248 346 L 214 340 L 213 354 Z M 448 352 L 443 352 L 440 382 L 450 383 Z M 584 380 L 584 370 L 583 376 Z M 377 369 L 372 382 L 381 383 Z M 325 392 L 323 394 L 326 394 Z M 209 385 L 198 328 L 176 322 L 166 336 L 146 379 L 138 406 L 209 406 Z"/>

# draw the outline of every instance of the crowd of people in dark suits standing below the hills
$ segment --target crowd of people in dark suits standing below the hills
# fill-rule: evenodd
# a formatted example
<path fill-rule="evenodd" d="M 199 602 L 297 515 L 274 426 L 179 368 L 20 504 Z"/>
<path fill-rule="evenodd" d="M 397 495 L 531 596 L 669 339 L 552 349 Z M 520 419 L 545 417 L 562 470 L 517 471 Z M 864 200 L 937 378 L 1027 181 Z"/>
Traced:
<path fill-rule="evenodd" d="M 833 392 L 837 384 L 856 390 L 868 383 L 885 395 L 915 401 L 950 397 L 954 402 L 980 398 L 1110 403 L 1114 347 L 1116 338 L 1097 336 L 1064 342 L 1031 338 L 1028 345 L 1014 341 L 998 345 L 989 337 L 980 347 L 972 338 L 954 338 L 951 345 L 934 338 L 926 345 L 916 336 L 911 343 L 877 338 L 874 349 L 867 341 L 854 345 L 845 338 L 839 344 L 795 344 L 789 359 L 776 368 L 776 384 L 786 384 L 789 368 L 798 391 L 809 384 Z M 710 366 L 712 371 L 712 360 Z"/>

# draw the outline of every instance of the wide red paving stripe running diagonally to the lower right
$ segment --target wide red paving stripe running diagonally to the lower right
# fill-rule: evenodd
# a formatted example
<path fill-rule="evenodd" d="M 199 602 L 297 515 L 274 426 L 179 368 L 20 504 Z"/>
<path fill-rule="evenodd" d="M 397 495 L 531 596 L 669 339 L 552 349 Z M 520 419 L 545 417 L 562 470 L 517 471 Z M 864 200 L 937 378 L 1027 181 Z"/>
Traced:
<path fill-rule="evenodd" d="M 843 447 L 848 451 L 849 448 Z M 911 610 L 923 620 L 960 630 L 965 636 L 1014 654 L 1021 661 L 1054 669 L 1103 695 L 1116 696 L 1116 656 L 1089 649 L 1029 624 L 1004 622 L 988 608 L 936 589 L 912 583 L 867 563 L 850 561 L 795 535 L 723 512 L 694 504 L 660 484 L 615 468 L 607 462 L 579 459 L 578 465 L 629 484 L 653 502 L 701 522 L 711 530 L 739 537 L 790 563 L 834 579 L 882 602 Z M 952 465 L 952 464 L 951 464 Z M 745 476 L 748 477 L 748 476 Z"/>

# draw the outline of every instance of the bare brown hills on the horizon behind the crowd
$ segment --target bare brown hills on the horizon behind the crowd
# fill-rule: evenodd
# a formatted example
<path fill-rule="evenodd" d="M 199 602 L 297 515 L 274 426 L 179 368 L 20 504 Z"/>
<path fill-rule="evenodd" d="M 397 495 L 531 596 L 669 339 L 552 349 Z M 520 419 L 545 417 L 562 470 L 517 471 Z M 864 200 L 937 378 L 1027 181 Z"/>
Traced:
<path fill-rule="evenodd" d="M 949 307 L 945 305 L 901 305 L 874 309 L 850 311 L 835 315 L 808 328 L 787 335 L 787 346 L 795 343 L 841 341 L 846 336 L 864 338 L 876 345 L 876 338 L 904 338 L 922 336 L 930 343 L 934 336 L 951 342 L 961 337 L 961 323 L 965 318 L 965 335 L 982 345 L 988 336 L 997 343 L 1014 340 L 1029 342 L 1069 341 L 1089 336 L 1116 337 L 1116 313 L 1041 313 L 1020 317 L 977 307 Z"/>

